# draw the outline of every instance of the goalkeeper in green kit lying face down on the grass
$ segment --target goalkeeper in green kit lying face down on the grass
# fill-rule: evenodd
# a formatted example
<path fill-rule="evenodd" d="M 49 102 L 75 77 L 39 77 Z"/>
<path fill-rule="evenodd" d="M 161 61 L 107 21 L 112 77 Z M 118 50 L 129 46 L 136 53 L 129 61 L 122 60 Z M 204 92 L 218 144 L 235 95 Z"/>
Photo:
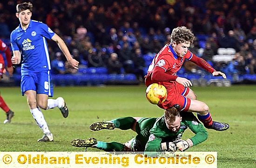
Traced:
<path fill-rule="evenodd" d="M 101 142 L 95 138 L 87 140 L 74 139 L 71 145 L 75 147 L 91 147 L 108 152 L 151 152 L 151 151 L 184 151 L 189 147 L 204 142 L 208 133 L 204 126 L 198 122 L 193 113 L 179 112 L 175 107 L 164 110 L 164 116 L 160 118 L 122 117 L 109 122 L 96 122 L 90 125 L 90 129 L 132 129 L 138 135 L 129 142 Z M 182 140 L 183 132 L 189 128 L 195 136 Z"/>

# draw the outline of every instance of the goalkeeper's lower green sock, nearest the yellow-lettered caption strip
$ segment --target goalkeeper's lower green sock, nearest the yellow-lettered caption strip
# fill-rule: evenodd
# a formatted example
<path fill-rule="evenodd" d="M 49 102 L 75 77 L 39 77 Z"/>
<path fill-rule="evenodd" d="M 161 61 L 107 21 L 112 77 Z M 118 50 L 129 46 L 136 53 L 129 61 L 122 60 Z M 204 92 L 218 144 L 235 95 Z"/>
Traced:
<path fill-rule="evenodd" d="M 106 152 L 122 152 L 124 151 L 124 144 L 119 143 L 119 142 L 101 142 L 98 141 L 96 147 L 97 149 L 104 150 Z"/>

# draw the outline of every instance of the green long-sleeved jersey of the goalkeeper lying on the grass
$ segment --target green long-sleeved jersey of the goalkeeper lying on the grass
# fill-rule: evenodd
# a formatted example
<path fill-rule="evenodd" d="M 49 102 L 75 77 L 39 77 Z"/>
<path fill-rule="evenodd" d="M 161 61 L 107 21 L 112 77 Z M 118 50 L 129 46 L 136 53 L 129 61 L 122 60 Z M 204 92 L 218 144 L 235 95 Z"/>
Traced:
<path fill-rule="evenodd" d="M 204 142 L 207 139 L 207 131 L 205 130 L 204 126 L 198 122 L 193 113 L 182 112 L 180 114 L 182 116 L 182 122 L 177 133 L 173 133 L 167 128 L 164 116 L 155 120 L 153 127 L 151 127 L 149 130 L 147 135 L 148 137 L 144 136 L 144 138 L 148 138 L 148 142 L 146 142 L 144 139 L 144 142 L 146 142 L 145 151 L 161 151 L 161 142 L 179 141 L 182 138 L 183 132 L 187 128 L 195 133 L 195 136 L 190 138 L 194 146 Z"/>

